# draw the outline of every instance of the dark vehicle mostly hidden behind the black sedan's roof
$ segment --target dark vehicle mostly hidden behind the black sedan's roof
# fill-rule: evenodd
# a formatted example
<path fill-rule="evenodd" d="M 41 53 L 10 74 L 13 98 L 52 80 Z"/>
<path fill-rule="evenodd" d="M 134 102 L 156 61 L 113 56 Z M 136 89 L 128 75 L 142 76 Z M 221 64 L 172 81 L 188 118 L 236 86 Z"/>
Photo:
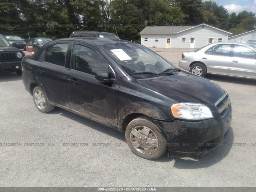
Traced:
<path fill-rule="evenodd" d="M 113 33 L 100 32 L 100 31 L 74 31 L 70 37 L 100 37 L 100 38 L 112 38 L 118 39 Z"/>

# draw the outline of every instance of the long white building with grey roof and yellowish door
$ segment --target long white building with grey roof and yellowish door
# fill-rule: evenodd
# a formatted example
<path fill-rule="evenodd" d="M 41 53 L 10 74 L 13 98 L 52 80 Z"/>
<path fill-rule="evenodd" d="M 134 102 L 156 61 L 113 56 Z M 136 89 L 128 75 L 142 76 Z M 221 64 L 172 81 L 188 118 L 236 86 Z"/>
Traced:
<path fill-rule="evenodd" d="M 230 32 L 207 24 L 197 26 L 147 26 L 141 44 L 160 48 L 200 48 L 213 42 L 227 42 Z"/>

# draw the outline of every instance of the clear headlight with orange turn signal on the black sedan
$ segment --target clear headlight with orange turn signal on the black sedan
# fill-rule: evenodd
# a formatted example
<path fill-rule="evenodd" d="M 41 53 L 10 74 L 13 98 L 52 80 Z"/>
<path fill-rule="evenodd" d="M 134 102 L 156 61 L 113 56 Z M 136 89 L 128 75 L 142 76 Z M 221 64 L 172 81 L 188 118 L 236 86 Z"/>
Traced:
<path fill-rule="evenodd" d="M 211 110 L 200 103 L 177 103 L 173 104 L 172 114 L 176 118 L 189 120 L 202 120 L 213 118 Z"/>

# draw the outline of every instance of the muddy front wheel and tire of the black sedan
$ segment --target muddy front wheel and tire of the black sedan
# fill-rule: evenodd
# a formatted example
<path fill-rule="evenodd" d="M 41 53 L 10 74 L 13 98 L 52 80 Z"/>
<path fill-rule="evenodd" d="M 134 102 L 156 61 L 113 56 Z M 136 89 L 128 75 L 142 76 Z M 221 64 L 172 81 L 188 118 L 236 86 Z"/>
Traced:
<path fill-rule="evenodd" d="M 125 139 L 134 154 L 148 160 L 160 158 L 167 149 L 162 131 L 144 116 L 128 124 Z"/>

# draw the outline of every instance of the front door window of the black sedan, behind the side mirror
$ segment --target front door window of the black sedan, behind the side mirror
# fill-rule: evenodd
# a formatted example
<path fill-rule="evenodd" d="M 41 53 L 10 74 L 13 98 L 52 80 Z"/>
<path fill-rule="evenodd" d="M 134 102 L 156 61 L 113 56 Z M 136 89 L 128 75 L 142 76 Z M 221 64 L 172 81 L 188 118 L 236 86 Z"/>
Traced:
<path fill-rule="evenodd" d="M 72 51 L 72 69 L 95 75 L 100 70 L 107 71 L 108 64 L 96 51 L 75 44 Z"/>

